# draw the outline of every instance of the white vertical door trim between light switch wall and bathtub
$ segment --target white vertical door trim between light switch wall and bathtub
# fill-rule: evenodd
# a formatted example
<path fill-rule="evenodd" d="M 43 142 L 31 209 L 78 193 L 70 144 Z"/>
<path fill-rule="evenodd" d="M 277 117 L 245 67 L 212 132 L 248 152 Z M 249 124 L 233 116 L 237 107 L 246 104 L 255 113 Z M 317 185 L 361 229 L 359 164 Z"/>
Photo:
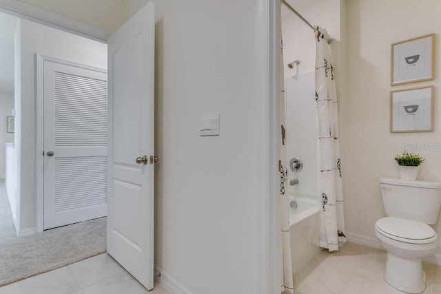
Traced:
<path fill-rule="evenodd" d="M 258 294 L 280 292 L 278 238 L 280 1 L 258 0 L 256 9 L 256 169 Z"/>

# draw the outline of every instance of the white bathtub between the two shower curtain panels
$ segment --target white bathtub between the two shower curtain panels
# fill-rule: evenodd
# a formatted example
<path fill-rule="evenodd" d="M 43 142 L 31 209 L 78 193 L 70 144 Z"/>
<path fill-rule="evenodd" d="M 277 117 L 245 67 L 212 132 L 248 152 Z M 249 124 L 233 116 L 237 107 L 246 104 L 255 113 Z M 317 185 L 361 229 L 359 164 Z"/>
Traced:
<path fill-rule="evenodd" d="M 292 272 L 295 275 L 321 251 L 318 246 L 320 202 L 300 194 L 289 195 L 289 202 L 292 200 L 297 202 L 297 208 L 290 207 L 289 215 Z"/>

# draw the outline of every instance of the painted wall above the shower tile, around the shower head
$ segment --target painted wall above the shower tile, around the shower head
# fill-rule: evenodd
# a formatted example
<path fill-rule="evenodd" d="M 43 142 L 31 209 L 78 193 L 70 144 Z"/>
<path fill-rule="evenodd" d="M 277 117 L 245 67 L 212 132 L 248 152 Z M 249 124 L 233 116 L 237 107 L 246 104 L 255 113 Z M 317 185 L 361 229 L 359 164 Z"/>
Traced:
<path fill-rule="evenodd" d="M 302 14 L 311 25 L 325 28 L 331 38 L 338 43 L 340 39 L 340 0 L 322 0 L 314 6 L 296 7 L 296 1 L 291 0 L 293 8 Z M 285 77 L 296 74 L 296 67 L 289 69 L 288 63 L 300 59 L 298 67 L 300 74 L 312 72 L 316 63 L 316 41 L 314 30 L 303 22 L 294 12 L 282 19 L 283 36 L 283 69 Z"/>

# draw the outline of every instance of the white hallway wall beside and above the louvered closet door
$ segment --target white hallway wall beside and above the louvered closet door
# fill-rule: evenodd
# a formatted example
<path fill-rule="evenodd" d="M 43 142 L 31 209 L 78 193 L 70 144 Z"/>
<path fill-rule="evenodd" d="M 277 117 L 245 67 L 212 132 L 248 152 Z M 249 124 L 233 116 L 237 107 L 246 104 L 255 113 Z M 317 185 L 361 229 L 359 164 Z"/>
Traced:
<path fill-rule="evenodd" d="M 20 230 L 36 227 L 36 63 L 35 54 L 107 68 L 107 45 L 81 36 L 20 20 L 17 34 L 21 52 L 19 94 L 16 97 L 17 193 L 20 195 Z M 19 124 L 20 122 L 20 124 Z"/>

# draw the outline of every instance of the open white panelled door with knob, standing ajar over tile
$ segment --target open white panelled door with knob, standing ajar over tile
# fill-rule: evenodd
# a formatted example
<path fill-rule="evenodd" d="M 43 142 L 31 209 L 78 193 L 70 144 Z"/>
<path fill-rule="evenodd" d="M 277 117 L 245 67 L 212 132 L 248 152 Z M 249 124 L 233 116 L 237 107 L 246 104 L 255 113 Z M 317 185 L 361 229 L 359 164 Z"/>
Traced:
<path fill-rule="evenodd" d="M 107 42 L 109 156 L 107 252 L 153 288 L 154 4 Z M 136 158 L 144 162 L 136 163 Z"/>

